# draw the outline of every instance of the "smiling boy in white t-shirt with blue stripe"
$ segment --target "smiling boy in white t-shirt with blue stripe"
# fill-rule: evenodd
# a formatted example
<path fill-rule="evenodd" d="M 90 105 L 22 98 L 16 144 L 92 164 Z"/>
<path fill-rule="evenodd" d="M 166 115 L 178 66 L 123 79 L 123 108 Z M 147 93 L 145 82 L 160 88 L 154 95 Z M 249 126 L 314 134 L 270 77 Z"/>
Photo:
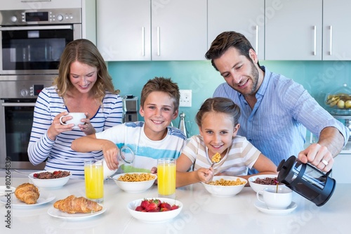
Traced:
<path fill-rule="evenodd" d="M 102 150 L 107 167 L 113 170 L 118 168 L 119 148 L 126 145 L 133 150 L 135 160 L 122 165 L 119 172 L 150 172 L 152 167 L 157 167 L 157 159 L 178 158 L 186 143 L 183 131 L 169 126 L 172 119 L 178 117 L 179 99 L 178 85 L 171 79 L 150 79 L 143 87 L 140 98 L 139 112 L 144 122 L 119 124 L 77 138 L 71 148 L 78 152 Z"/>

